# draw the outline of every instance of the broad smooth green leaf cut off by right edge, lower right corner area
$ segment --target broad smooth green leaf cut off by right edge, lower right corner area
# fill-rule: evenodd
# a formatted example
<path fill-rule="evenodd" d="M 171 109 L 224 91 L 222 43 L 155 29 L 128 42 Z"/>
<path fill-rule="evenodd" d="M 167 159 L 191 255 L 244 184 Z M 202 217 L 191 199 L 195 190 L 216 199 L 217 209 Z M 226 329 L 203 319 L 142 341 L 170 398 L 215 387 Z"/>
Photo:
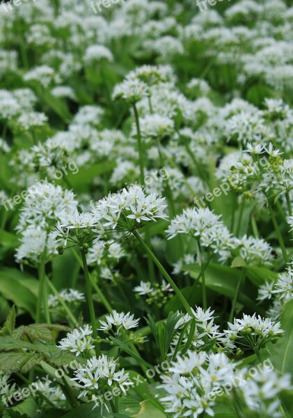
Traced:
<path fill-rule="evenodd" d="M 280 324 L 285 331 L 284 336 L 276 344 L 269 343 L 267 352 L 276 371 L 293 374 L 293 300 L 285 304 Z"/>

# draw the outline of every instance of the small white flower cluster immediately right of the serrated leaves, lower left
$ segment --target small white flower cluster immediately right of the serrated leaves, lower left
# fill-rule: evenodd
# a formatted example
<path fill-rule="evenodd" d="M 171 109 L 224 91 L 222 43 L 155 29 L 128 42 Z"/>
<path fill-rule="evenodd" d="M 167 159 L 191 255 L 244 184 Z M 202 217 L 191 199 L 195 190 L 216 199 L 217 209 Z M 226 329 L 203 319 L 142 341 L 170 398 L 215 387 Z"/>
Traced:
<path fill-rule="evenodd" d="M 79 356 L 81 353 L 84 353 L 85 350 L 95 348 L 92 334 L 93 330 L 91 330 L 88 325 L 84 328 L 76 328 L 71 333 L 68 333 L 67 336 L 59 342 L 57 347 Z"/>

